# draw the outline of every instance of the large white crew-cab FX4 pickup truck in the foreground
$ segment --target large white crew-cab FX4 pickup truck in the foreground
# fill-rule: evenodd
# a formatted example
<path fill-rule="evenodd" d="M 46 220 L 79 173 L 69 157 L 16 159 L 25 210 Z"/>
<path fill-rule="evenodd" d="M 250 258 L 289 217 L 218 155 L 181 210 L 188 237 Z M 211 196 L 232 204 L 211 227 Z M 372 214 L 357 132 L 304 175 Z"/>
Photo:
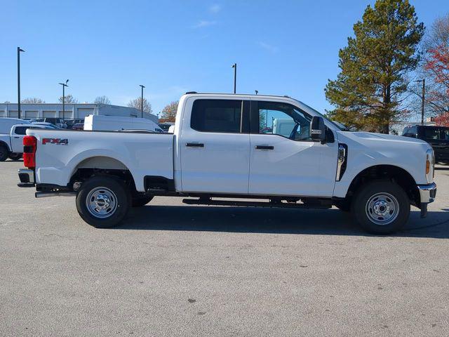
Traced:
<path fill-rule="evenodd" d="M 275 120 L 290 120 L 276 134 Z M 351 211 L 369 232 L 406 224 L 434 201 L 422 140 L 342 131 L 287 96 L 186 93 L 170 133 L 27 130 L 21 187 L 76 195 L 86 223 L 112 227 L 154 196 L 185 204 Z M 246 201 L 243 199 L 244 198 Z M 239 200 L 236 200 L 239 199 Z M 300 225 L 298 223 L 298 225 Z"/>

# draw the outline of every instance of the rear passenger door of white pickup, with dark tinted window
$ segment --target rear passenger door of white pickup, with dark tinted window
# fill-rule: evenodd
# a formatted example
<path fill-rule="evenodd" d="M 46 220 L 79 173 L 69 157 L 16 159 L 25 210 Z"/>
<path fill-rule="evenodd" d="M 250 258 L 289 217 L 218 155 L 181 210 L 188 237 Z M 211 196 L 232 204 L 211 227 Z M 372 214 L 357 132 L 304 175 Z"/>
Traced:
<path fill-rule="evenodd" d="M 180 135 L 182 192 L 248 193 L 249 100 L 192 98 Z"/>

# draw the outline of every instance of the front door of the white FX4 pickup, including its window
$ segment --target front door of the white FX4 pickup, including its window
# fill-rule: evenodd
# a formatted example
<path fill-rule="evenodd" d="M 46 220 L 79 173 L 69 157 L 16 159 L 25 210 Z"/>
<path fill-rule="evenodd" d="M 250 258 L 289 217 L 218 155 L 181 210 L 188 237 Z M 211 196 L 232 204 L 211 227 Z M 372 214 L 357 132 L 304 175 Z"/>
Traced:
<path fill-rule="evenodd" d="M 281 101 L 251 100 L 250 118 L 250 194 L 333 195 L 337 143 L 311 140 L 309 114 Z"/>

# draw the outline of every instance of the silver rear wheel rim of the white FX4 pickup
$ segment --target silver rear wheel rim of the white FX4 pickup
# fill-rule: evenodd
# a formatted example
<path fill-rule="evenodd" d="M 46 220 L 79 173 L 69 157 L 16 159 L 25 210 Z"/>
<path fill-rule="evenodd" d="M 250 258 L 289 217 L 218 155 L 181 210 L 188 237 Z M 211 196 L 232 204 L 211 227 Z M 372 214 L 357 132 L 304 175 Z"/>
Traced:
<path fill-rule="evenodd" d="M 95 218 L 108 218 L 117 209 L 117 197 L 107 187 L 96 187 L 87 195 L 86 207 Z"/>

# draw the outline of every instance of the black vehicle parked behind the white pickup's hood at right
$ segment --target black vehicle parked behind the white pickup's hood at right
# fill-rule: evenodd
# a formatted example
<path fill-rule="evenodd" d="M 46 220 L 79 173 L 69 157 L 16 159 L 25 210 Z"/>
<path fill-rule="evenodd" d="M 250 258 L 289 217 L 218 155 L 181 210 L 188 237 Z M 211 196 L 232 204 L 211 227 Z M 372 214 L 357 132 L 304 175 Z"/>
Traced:
<path fill-rule="evenodd" d="M 402 136 L 425 140 L 435 151 L 435 161 L 449 164 L 449 128 L 444 126 L 406 126 Z"/>

